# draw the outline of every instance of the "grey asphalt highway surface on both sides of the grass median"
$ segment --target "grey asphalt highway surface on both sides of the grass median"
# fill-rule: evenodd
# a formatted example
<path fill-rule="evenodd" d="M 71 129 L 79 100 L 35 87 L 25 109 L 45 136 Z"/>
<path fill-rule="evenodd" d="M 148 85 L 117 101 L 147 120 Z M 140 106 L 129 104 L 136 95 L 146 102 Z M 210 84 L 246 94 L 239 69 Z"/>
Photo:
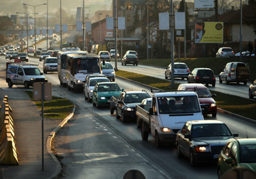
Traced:
<path fill-rule="evenodd" d="M 4 69 L 6 62 L 9 62 L 4 56 L 0 56 L 0 61 L 0 69 Z M 38 63 L 38 67 L 43 71 L 43 62 L 39 62 L 38 59 L 29 58 L 29 63 Z M 121 66 L 120 63 L 118 68 L 132 72 L 147 72 L 146 75 L 164 79 L 163 68 L 143 65 Z M 85 101 L 82 92 L 75 93 L 61 87 L 56 72 L 48 72 L 45 76 L 53 84 L 54 96 L 70 99 L 76 106 L 73 118 L 55 136 L 55 152 L 61 156 L 60 161 L 65 168 L 60 178 L 122 178 L 124 173 L 132 169 L 142 171 L 147 179 L 217 178 L 216 163 L 206 163 L 192 168 L 188 158 L 177 158 L 174 146 L 156 148 L 151 135 L 148 141 L 142 141 L 140 130 L 135 123 L 123 124 L 121 119 L 116 119 L 114 114 L 110 114 L 109 108 L 92 107 L 92 103 Z M 120 80 L 118 77 L 116 82 L 127 91 L 146 89 L 150 92 L 150 89 L 143 85 Z M 186 81 L 177 79 L 176 82 Z M 25 89 L 16 85 L 10 89 L 4 79 L 1 79 L 0 86 L 3 92 L 18 92 Z M 245 95 L 247 87 L 217 83 L 214 89 Z M 246 92 L 243 92 L 245 89 Z M 220 113 L 216 117 L 205 116 L 205 119 L 225 122 L 233 133 L 239 134 L 238 138 L 245 138 L 247 135 L 256 137 L 255 124 Z"/>

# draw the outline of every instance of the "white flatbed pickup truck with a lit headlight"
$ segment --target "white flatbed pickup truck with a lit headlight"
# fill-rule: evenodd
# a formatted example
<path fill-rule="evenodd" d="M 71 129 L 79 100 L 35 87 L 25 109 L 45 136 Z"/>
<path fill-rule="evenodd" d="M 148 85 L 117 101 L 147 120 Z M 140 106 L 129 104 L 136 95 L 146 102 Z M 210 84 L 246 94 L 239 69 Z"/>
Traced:
<path fill-rule="evenodd" d="M 142 140 L 146 141 L 151 132 L 158 148 L 174 143 L 186 121 L 203 120 L 196 92 L 154 92 L 151 104 L 137 104 L 135 111 Z"/>

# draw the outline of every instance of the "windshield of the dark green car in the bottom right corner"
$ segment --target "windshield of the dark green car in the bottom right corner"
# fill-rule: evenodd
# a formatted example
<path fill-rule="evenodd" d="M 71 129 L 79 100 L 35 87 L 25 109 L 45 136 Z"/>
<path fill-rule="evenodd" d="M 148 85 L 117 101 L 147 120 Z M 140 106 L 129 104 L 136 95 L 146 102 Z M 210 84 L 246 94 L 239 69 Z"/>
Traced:
<path fill-rule="evenodd" d="M 256 144 L 240 146 L 240 163 L 256 163 Z"/>

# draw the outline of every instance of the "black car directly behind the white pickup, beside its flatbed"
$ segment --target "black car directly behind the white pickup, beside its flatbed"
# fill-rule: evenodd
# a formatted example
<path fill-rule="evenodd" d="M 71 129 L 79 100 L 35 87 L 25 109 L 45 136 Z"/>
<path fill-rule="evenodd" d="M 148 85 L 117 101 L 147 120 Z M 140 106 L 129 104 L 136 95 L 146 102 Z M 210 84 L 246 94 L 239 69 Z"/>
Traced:
<path fill-rule="evenodd" d="M 150 98 L 146 91 L 123 91 L 117 99 L 117 118 L 122 116 L 122 122 L 132 121 L 136 119 L 136 104 L 141 104 L 142 100 Z"/>

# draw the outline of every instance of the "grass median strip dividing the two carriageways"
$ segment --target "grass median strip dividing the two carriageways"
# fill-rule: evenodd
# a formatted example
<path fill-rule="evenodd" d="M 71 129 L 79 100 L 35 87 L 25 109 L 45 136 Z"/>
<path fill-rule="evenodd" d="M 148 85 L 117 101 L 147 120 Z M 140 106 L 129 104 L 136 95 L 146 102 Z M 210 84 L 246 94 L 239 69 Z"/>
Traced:
<path fill-rule="evenodd" d="M 141 82 L 146 85 L 150 85 L 152 87 L 157 87 L 159 89 L 163 89 L 164 91 L 176 90 L 178 87 L 178 83 L 175 83 L 175 87 L 169 87 L 171 82 L 166 80 L 161 80 L 156 77 L 149 77 L 146 75 L 140 75 L 134 72 L 126 72 L 123 70 L 118 70 L 116 72 L 117 76 L 125 77 L 130 80 L 134 80 L 137 82 Z M 217 103 L 217 107 L 224 109 L 228 112 L 233 112 L 235 114 L 239 114 L 241 116 L 246 116 L 250 119 L 256 119 L 255 116 L 255 109 L 256 109 L 256 102 L 250 99 L 245 99 L 242 97 L 237 97 L 230 94 L 223 94 L 221 92 L 216 92 L 210 90 L 212 94 L 216 94 L 214 97 L 215 102 Z"/>

